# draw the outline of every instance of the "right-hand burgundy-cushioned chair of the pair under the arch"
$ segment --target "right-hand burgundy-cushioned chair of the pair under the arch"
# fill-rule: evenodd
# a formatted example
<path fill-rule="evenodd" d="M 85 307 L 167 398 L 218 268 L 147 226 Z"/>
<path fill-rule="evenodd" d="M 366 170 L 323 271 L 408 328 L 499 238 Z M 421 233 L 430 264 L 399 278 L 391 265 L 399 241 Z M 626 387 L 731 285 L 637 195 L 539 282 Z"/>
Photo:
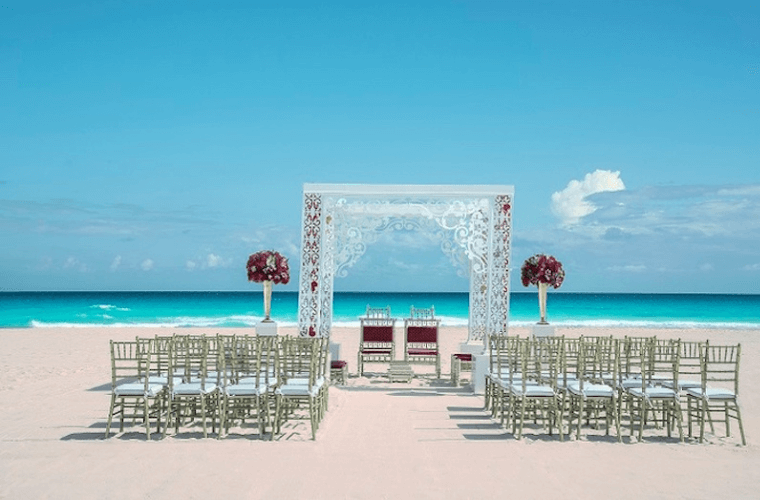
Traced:
<path fill-rule="evenodd" d="M 434 365 L 436 378 L 441 378 L 441 352 L 438 346 L 438 327 L 435 308 L 409 311 L 404 319 L 404 361 L 410 365 Z"/>

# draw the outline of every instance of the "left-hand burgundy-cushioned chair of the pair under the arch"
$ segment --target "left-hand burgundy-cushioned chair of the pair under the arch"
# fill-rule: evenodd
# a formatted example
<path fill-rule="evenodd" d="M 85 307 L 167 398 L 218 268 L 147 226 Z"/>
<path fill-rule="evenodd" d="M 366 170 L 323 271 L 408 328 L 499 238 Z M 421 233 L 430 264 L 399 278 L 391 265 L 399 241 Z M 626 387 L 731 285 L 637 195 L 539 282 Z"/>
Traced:
<path fill-rule="evenodd" d="M 367 306 L 366 316 L 360 319 L 361 338 L 357 365 L 359 376 L 364 375 L 365 363 L 388 363 L 395 359 L 396 347 L 393 342 L 391 308 Z"/>

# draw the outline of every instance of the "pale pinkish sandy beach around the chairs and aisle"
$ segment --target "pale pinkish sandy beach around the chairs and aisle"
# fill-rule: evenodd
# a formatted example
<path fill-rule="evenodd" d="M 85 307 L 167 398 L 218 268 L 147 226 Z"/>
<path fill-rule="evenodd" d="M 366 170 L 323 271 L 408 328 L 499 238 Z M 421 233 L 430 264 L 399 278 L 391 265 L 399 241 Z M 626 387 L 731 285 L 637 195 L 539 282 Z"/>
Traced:
<path fill-rule="evenodd" d="M 645 435 L 623 443 L 602 432 L 559 442 L 528 431 L 517 441 L 482 410 L 483 397 L 449 384 L 450 353 L 466 340 L 443 328 L 440 381 L 389 384 L 356 377 L 358 331 L 333 340 L 349 362 L 345 387 L 310 439 L 289 423 L 270 442 L 233 435 L 168 436 L 146 442 L 139 428 L 104 439 L 110 391 L 109 339 L 170 329 L 0 330 L 0 498 L 757 498 L 760 485 L 760 332 L 646 330 L 644 334 L 742 344 L 738 428 L 700 444 Z M 186 332 L 188 329 L 183 329 Z M 216 333 L 210 329 L 194 332 Z M 225 329 L 225 333 L 252 333 Z M 281 333 L 287 333 L 287 331 Z M 292 333 L 292 332 L 291 332 Z M 515 328 L 514 334 L 527 330 Z M 559 334 L 640 335 L 626 329 L 559 329 Z M 429 367 L 418 367 L 425 372 Z M 465 376 L 466 378 L 466 376 Z M 117 428 L 118 430 L 118 428 Z M 252 434 L 252 435 L 255 435 Z"/>

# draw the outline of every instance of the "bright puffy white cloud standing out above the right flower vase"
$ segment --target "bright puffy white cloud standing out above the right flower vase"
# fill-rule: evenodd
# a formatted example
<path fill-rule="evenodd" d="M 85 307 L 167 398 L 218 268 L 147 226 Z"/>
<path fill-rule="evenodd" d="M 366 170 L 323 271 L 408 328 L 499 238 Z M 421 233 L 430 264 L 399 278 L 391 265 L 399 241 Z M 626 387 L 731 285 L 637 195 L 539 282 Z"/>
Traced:
<path fill-rule="evenodd" d="M 597 210 L 597 206 L 586 199 L 588 196 L 624 189 L 620 172 L 596 170 L 586 174 L 582 181 L 572 180 L 565 189 L 552 194 L 551 210 L 563 225 L 577 224 L 583 217 Z"/>

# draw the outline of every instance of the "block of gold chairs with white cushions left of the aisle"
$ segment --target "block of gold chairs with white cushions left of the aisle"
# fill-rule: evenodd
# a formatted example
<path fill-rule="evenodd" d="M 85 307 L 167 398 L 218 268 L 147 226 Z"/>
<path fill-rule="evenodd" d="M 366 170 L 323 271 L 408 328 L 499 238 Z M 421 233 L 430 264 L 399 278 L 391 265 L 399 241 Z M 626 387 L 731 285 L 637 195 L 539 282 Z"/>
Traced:
<path fill-rule="evenodd" d="M 308 418 L 312 438 L 327 408 L 327 339 L 236 335 L 172 335 L 111 341 L 114 417 L 140 421 L 166 436 L 169 427 L 200 422 L 217 438 L 233 423 L 258 423 L 263 437 L 281 432 L 289 418 Z M 305 408 L 306 411 L 300 411 Z"/>

